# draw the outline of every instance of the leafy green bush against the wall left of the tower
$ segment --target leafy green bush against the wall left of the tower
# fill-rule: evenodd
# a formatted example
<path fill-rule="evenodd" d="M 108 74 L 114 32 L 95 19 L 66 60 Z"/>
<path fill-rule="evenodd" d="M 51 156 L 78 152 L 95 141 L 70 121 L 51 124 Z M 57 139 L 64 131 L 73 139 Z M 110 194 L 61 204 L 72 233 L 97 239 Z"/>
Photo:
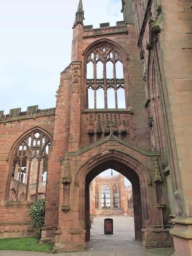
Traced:
<path fill-rule="evenodd" d="M 35 228 L 38 237 L 40 237 L 42 226 L 45 222 L 45 199 L 39 199 L 33 203 L 29 211 L 32 219 L 31 227 Z"/>

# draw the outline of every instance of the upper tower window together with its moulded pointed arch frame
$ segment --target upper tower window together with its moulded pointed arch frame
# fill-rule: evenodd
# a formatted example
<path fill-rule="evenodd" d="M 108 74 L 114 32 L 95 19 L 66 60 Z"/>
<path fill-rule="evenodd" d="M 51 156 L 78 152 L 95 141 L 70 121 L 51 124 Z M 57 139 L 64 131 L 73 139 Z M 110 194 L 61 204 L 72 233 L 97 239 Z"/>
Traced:
<path fill-rule="evenodd" d="M 126 65 L 127 58 L 123 48 L 112 40 L 103 38 L 89 45 L 87 49 L 85 49 L 84 55 L 84 84 L 86 85 L 85 108 L 127 108 L 128 72 Z M 87 76 L 87 64 L 90 63 L 93 64 L 92 77 Z M 118 77 L 118 70 L 120 69 L 120 67 L 117 67 L 117 64 L 119 63 L 122 65 L 121 69 L 123 77 Z M 98 76 L 99 64 L 102 65 L 102 67 L 100 67 L 100 76 Z M 108 67 L 107 69 L 108 64 L 111 64 L 112 67 Z M 107 70 L 110 71 L 110 74 L 107 72 Z M 121 90 L 123 90 L 124 96 L 122 95 Z M 91 105 L 88 102 L 90 99 L 89 96 L 92 97 Z M 98 97 L 102 98 L 101 101 L 104 101 L 103 104 L 98 105 Z M 109 98 L 113 99 L 114 101 L 111 106 L 109 106 Z M 124 106 L 120 105 L 120 98 L 122 102 L 125 101 Z M 118 106 L 118 103 L 121 107 Z"/>

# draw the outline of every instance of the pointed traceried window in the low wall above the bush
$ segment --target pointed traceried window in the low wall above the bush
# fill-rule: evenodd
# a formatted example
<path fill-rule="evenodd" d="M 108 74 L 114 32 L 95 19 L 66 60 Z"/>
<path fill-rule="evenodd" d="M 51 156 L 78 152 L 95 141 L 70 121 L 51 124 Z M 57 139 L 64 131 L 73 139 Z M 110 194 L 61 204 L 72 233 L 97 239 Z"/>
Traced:
<path fill-rule="evenodd" d="M 31 132 L 17 146 L 13 156 L 11 201 L 45 198 L 50 139 L 40 130 Z"/>

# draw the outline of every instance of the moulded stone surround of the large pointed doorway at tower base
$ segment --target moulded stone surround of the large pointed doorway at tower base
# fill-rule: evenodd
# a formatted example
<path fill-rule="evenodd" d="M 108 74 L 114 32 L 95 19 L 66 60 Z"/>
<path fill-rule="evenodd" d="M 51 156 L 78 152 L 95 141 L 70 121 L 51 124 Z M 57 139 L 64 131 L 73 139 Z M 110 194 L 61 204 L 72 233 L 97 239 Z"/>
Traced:
<path fill-rule="evenodd" d="M 135 239 L 142 240 L 142 223 L 147 220 L 149 175 L 141 163 L 118 150 L 109 150 L 90 159 L 78 173 L 80 188 L 80 218 L 85 220 L 86 241 L 90 238 L 89 184 L 101 172 L 112 168 L 132 183 Z"/>

